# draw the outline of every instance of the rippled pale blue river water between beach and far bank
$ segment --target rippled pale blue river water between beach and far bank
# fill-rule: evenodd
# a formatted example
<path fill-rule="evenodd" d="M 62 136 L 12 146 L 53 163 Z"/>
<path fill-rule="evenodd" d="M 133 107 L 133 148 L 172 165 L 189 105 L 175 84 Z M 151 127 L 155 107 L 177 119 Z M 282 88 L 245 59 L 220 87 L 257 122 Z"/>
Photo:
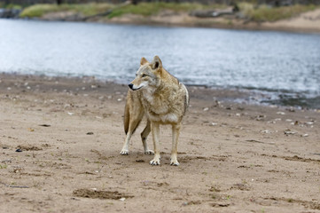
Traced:
<path fill-rule="evenodd" d="M 95 75 L 129 83 L 159 55 L 186 84 L 261 92 L 261 103 L 320 108 L 320 35 L 0 20 L 0 72 Z"/>

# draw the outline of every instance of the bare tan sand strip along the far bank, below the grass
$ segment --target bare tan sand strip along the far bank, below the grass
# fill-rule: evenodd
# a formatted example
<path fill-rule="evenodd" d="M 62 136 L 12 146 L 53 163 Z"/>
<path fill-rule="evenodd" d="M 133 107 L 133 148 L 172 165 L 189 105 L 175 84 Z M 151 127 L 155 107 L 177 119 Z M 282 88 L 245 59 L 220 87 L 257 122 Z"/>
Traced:
<path fill-rule="evenodd" d="M 54 18 L 52 19 L 51 15 L 46 16 L 43 20 L 55 20 Z M 112 20 L 90 19 L 87 21 L 167 27 L 228 28 L 246 30 L 272 30 L 297 33 L 320 33 L 320 9 L 312 12 L 303 12 L 297 17 L 273 22 L 238 20 L 235 17 L 197 18 L 190 16 L 187 12 L 161 12 L 158 15 L 148 18 L 139 15 L 127 14 L 119 18 L 113 18 Z"/>

